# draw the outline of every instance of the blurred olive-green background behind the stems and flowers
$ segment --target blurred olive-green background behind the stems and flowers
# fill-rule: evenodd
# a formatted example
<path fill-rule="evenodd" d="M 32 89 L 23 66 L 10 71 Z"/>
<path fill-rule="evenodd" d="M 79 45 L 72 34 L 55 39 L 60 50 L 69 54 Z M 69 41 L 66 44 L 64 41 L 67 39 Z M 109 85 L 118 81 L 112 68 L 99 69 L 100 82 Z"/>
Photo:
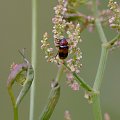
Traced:
<path fill-rule="evenodd" d="M 101 0 L 100 7 L 106 7 L 108 0 Z M 44 32 L 51 34 L 51 19 L 54 16 L 53 7 L 56 0 L 38 0 L 38 55 L 37 84 L 35 101 L 35 120 L 38 119 L 50 91 L 50 81 L 57 73 L 57 67 L 44 59 L 40 49 L 40 40 Z M 83 11 L 85 9 L 82 9 Z M 85 12 L 85 11 L 84 11 Z M 114 37 L 113 30 L 104 28 L 108 39 Z M 99 57 L 100 39 L 96 31 L 81 35 L 80 44 L 83 52 L 81 76 L 93 85 Z M 52 39 L 51 43 L 53 44 Z M 26 55 L 31 59 L 31 0 L 0 0 L 0 120 L 13 120 L 11 101 L 6 88 L 6 80 L 10 65 L 21 63 L 18 49 L 26 48 Z M 69 110 L 72 120 L 93 120 L 92 105 L 84 99 L 84 91 L 72 91 L 66 85 L 65 75 L 61 80 L 61 96 L 51 120 L 63 120 L 64 111 Z M 14 89 L 18 93 L 18 87 Z M 120 49 L 110 52 L 107 61 L 104 80 L 101 88 L 102 113 L 108 112 L 111 120 L 120 120 Z M 25 96 L 19 108 L 19 120 L 29 118 L 29 93 Z"/>

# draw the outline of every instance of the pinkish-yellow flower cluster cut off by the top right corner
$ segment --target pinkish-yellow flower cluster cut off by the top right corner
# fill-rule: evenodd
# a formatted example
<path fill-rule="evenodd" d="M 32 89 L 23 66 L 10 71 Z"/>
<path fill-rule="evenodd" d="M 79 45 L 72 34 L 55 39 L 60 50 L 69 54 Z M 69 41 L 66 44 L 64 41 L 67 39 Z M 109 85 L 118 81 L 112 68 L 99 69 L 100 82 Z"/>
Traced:
<path fill-rule="evenodd" d="M 109 25 L 120 32 L 120 6 L 117 2 L 114 2 L 114 0 L 109 0 L 108 6 L 113 13 L 109 18 Z"/>

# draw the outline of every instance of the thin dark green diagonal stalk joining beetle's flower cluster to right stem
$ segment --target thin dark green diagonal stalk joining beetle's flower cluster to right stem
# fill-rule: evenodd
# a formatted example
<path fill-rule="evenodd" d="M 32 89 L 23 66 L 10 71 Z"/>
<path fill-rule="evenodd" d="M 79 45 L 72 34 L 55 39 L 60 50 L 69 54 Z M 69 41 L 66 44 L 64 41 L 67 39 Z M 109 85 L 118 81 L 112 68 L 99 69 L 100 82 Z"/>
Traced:
<path fill-rule="evenodd" d="M 63 64 L 69 71 L 70 68 L 66 65 L 66 63 Z M 85 90 L 87 91 L 93 91 L 93 89 L 83 80 L 83 78 L 81 78 L 80 76 L 78 76 L 75 72 L 72 72 L 74 78 L 77 80 L 77 82 L 79 83 L 79 85 L 81 87 L 83 87 Z"/>

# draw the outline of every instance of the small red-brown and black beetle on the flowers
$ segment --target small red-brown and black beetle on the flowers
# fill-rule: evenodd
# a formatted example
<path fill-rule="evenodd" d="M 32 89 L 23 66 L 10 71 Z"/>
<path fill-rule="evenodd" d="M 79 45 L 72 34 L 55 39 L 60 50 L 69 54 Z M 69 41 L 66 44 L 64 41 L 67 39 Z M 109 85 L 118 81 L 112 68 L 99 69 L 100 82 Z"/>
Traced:
<path fill-rule="evenodd" d="M 65 59 L 68 56 L 68 42 L 65 38 L 59 40 L 58 55 L 60 59 Z"/>

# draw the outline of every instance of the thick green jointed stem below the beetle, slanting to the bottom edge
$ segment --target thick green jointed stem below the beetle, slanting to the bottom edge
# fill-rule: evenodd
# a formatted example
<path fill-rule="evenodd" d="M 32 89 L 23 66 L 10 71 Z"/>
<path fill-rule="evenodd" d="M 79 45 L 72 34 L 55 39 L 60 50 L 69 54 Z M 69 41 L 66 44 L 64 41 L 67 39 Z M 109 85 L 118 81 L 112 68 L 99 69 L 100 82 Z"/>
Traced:
<path fill-rule="evenodd" d="M 63 68 L 64 68 L 63 65 L 59 66 L 55 81 L 53 81 L 51 83 L 52 89 L 51 89 L 51 92 L 50 92 L 50 95 L 48 98 L 49 100 L 48 100 L 48 103 L 46 104 L 42 114 L 40 115 L 39 120 L 49 120 L 55 109 L 55 106 L 58 103 L 58 100 L 60 97 L 60 86 L 59 86 L 58 82 L 60 81 L 60 78 L 62 76 Z"/>

